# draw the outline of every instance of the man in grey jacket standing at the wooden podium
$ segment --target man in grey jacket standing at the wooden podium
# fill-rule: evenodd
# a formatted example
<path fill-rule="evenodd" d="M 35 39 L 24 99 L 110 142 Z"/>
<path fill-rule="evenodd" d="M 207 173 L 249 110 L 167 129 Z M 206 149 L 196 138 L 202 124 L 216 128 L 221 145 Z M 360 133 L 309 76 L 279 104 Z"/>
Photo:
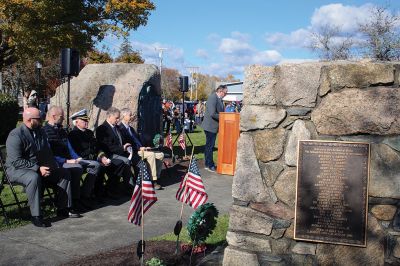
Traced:
<path fill-rule="evenodd" d="M 219 113 L 224 111 L 222 98 L 228 93 L 226 85 L 220 85 L 207 99 L 206 112 L 201 127 L 206 135 L 206 145 L 204 147 L 205 169 L 215 172 L 216 167 L 213 160 L 213 149 L 217 138 L 219 126 Z"/>

